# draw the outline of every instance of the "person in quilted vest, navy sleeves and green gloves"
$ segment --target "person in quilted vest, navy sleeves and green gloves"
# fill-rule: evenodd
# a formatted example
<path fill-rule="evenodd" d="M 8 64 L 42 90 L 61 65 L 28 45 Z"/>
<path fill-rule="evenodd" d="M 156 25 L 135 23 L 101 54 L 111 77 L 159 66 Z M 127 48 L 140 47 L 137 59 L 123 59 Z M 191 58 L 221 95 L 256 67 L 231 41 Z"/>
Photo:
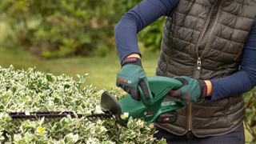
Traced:
<path fill-rule="evenodd" d="M 167 143 L 245 143 L 242 94 L 256 85 L 256 1 L 144 0 L 114 28 L 122 65 L 117 86 L 135 100 L 138 86 L 152 98 L 137 34 L 166 16 L 156 75 L 183 86 L 174 123 L 154 123 L 154 138 Z"/>

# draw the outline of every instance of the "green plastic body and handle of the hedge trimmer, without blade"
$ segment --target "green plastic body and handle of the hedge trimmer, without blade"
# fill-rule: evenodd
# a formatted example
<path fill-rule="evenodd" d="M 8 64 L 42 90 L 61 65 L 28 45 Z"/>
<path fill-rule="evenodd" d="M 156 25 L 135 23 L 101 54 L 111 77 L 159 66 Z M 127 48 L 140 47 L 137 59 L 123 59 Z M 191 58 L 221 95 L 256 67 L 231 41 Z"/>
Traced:
<path fill-rule="evenodd" d="M 138 88 L 140 97 L 142 98 L 141 101 L 136 101 L 129 95 L 119 101 L 122 114 L 129 113 L 129 117 L 125 119 L 125 122 L 128 122 L 130 117 L 144 118 L 144 121 L 148 123 L 155 121 L 159 122 L 161 119 L 170 119 L 170 116 L 172 116 L 170 115 L 171 111 L 183 107 L 179 100 L 164 100 L 171 90 L 177 90 L 180 88 L 182 86 L 182 82 L 174 78 L 162 76 L 148 76 L 147 79 L 152 98 L 145 98 L 142 89 Z M 164 118 L 166 117 L 166 113 L 170 115 L 168 118 Z M 164 115 L 163 117 L 160 116 L 160 118 L 158 118 L 160 114 Z"/>

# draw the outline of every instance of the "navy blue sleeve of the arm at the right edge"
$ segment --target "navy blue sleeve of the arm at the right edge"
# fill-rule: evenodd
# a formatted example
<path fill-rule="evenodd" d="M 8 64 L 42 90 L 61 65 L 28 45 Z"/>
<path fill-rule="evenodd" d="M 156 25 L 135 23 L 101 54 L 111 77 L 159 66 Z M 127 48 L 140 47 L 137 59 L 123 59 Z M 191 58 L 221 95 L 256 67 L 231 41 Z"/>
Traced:
<path fill-rule="evenodd" d="M 210 82 L 213 93 L 211 98 L 206 98 L 207 101 L 243 94 L 256 86 L 256 22 L 243 50 L 240 70 L 226 78 Z"/>

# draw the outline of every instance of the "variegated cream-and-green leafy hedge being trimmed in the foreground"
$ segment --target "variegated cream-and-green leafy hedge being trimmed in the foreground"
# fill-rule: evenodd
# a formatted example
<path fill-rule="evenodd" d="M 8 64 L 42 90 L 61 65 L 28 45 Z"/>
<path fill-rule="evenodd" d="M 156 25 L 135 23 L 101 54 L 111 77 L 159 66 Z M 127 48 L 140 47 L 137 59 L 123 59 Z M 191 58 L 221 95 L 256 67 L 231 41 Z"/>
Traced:
<path fill-rule="evenodd" d="M 100 96 L 103 90 L 90 86 L 82 88 L 87 74 L 78 75 L 78 82 L 62 74 L 42 74 L 34 68 L 14 70 L 0 68 L 0 143 L 154 143 L 155 133 L 142 119 L 130 118 L 122 127 L 114 118 L 88 120 L 86 118 L 62 118 L 61 120 L 15 121 L 6 112 L 25 111 L 77 111 L 85 116 L 91 110 L 102 113 Z M 118 89 L 110 94 L 118 99 Z M 165 143 L 164 139 L 157 141 Z"/>

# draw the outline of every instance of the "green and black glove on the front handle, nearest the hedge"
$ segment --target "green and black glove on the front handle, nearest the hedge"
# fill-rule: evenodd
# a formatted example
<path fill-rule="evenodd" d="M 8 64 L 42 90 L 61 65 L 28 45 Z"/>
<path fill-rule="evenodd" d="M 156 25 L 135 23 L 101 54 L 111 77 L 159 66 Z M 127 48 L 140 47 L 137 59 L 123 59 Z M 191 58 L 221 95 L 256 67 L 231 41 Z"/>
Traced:
<path fill-rule="evenodd" d="M 122 68 L 118 71 L 116 85 L 125 90 L 132 98 L 140 101 L 138 86 L 146 98 L 152 98 L 146 73 L 142 67 L 140 58 L 125 58 L 122 61 Z"/>

